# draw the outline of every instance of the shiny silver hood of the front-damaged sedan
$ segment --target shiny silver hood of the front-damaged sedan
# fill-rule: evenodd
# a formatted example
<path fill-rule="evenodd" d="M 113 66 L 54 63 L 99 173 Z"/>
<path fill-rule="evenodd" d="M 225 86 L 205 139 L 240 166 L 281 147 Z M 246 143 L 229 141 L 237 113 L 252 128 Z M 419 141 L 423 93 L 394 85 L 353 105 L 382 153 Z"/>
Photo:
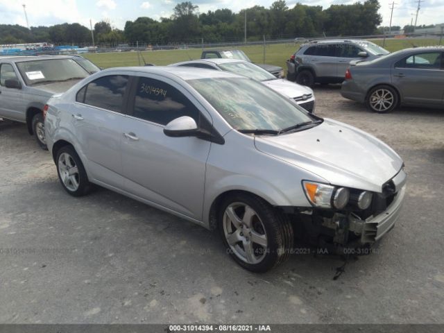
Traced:
<path fill-rule="evenodd" d="M 314 128 L 278 136 L 256 136 L 255 146 L 316 174 L 332 185 L 382 192 L 402 168 L 384 142 L 352 126 L 324 119 Z"/>

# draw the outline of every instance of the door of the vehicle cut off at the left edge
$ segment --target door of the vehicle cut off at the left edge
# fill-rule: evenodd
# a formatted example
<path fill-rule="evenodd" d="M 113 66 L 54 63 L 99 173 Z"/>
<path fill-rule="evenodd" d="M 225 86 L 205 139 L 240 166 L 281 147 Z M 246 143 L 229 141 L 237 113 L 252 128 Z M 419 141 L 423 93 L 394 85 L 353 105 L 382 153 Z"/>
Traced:
<path fill-rule="evenodd" d="M 8 62 L 0 63 L 0 117 L 16 121 L 26 121 L 26 110 L 24 110 L 24 93 L 22 89 L 5 87 L 6 80 L 22 81 L 17 75 L 12 64 Z"/>

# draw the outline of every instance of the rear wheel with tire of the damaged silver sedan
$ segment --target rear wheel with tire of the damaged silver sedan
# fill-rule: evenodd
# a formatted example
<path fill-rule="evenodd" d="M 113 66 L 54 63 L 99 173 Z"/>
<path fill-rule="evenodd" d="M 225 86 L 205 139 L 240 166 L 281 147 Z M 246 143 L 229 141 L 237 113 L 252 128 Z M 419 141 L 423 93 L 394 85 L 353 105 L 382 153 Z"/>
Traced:
<path fill-rule="evenodd" d="M 83 163 L 72 146 L 63 146 L 56 154 L 60 183 L 71 196 L 84 196 L 91 188 Z"/>

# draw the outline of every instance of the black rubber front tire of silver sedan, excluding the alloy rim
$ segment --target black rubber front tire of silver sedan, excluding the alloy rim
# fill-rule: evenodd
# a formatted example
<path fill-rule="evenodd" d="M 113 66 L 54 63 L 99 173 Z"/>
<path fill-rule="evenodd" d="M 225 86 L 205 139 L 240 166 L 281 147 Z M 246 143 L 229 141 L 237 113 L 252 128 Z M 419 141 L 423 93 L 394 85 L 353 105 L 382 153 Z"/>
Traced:
<path fill-rule="evenodd" d="M 246 205 L 249 205 L 250 207 L 255 210 L 255 212 L 258 214 L 259 218 L 261 219 L 262 223 L 264 224 L 266 237 L 267 237 L 267 253 L 262 259 L 262 262 L 259 262 L 258 264 L 248 264 L 244 262 L 242 259 L 237 257 L 232 252 L 232 249 L 230 248 L 230 245 L 228 244 L 228 241 L 225 237 L 225 232 L 223 231 L 223 215 L 225 213 L 225 209 L 230 205 L 231 203 L 245 203 Z M 277 228 L 273 227 L 274 223 L 279 223 L 278 216 L 274 216 L 275 213 L 273 211 L 273 208 L 268 205 L 264 200 L 255 197 L 253 195 L 248 194 L 234 194 L 230 196 L 229 198 L 226 198 L 223 200 L 223 203 L 221 204 L 221 209 L 218 213 L 218 225 L 219 225 L 219 232 L 221 234 L 223 244 L 225 245 L 225 248 L 227 252 L 230 254 L 232 259 L 234 259 L 235 262 L 237 262 L 240 266 L 246 268 L 248 271 L 253 271 L 255 273 L 263 273 L 274 266 L 278 264 L 280 255 L 278 254 L 278 250 L 282 250 L 282 244 L 279 244 L 278 239 L 278 233 L 280 230 L 277 230 Z M 270 219 L 275 219 L 273 223 L 271 223 Z"/>

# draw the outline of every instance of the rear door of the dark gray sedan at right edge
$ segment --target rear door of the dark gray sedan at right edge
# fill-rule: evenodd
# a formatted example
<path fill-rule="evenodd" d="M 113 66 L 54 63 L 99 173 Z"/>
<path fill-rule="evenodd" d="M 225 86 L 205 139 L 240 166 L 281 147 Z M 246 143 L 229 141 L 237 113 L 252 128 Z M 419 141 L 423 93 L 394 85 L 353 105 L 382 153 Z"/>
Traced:
<path fill-rule="evenodd" d="M 429 51 L 414 53 L 395 63 L 391 79 L 405 103 L 443 103 L 443 53 Z"/>

